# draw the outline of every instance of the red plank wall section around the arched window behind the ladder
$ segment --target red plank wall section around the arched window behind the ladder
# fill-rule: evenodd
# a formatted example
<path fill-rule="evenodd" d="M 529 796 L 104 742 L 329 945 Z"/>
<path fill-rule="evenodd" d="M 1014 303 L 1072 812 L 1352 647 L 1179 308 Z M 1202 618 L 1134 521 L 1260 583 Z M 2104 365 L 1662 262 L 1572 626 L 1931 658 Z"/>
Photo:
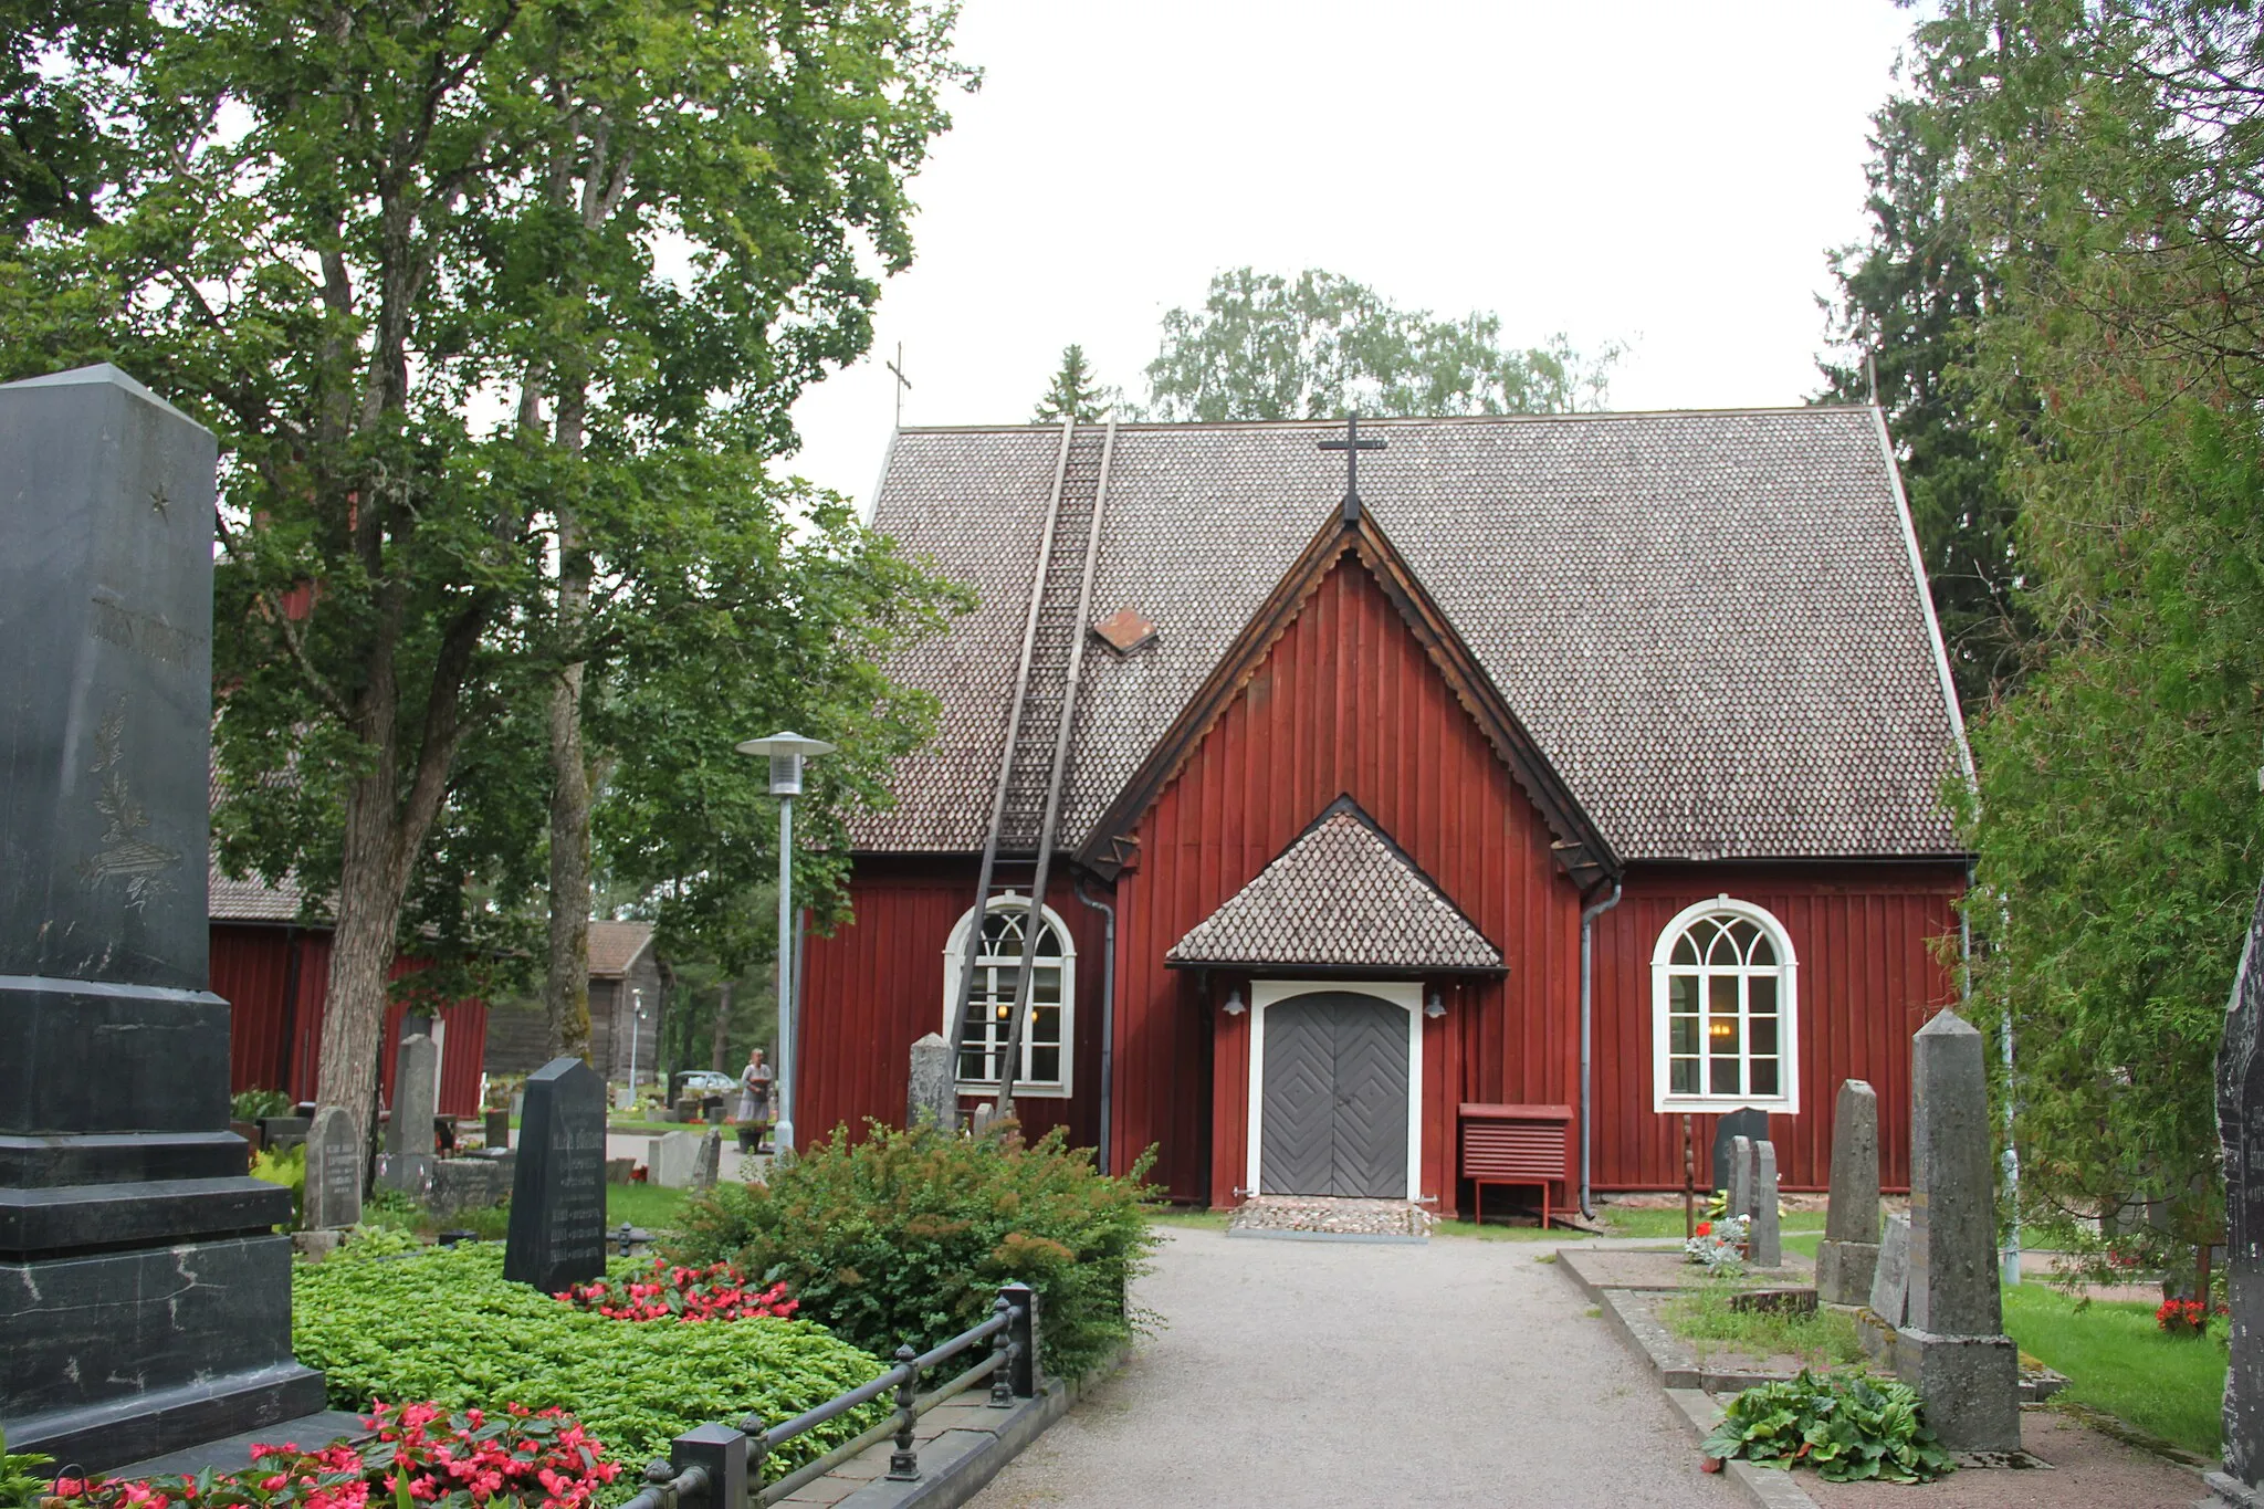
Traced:
<path fill-rule="evenodd" d="M 801 1142 L 835 1127 L 858 1133 L 867 1118 L 903 1124 L 912 1043 L 944 1025 L 944 946 L 974 900 L 974 862 L 858 860 L 849 880 L 854 921 L 808 941 L 795 1106 Z M 1014 1111 L 1032 1138 L 1069 1127 L 1071 1142 L 1091 1147 L 1100 1131 L 1105 923 L 1075 898 L 1066 876 L 1046 887 L 1046 905 L 1069 925 L 1078 950 L 1073 1093 L 1023 1095 Z"/>

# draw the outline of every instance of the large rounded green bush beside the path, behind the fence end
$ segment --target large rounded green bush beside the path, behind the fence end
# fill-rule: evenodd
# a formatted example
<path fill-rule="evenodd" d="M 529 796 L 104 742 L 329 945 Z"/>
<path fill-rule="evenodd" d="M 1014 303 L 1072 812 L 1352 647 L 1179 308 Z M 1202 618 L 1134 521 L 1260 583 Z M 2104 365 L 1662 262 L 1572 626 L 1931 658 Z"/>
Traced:
<path fill-rule="evenodd" d="M 1125 1285 L 1155 1249 L 1132 1174 L 1094 1172 L 1060 1129 L 958 1138 L 840 1127 L 767 1185 L 718 1185 L 679 1210 L 679 1262 L 729 1260 L 783 1278 L 801 1314 L 887 1355 L 928 1348 L 989 1314 L 1001 1283 L 1039 1294 L 1039 1360 L 1078 1378 L 1132 1337 Z"/>

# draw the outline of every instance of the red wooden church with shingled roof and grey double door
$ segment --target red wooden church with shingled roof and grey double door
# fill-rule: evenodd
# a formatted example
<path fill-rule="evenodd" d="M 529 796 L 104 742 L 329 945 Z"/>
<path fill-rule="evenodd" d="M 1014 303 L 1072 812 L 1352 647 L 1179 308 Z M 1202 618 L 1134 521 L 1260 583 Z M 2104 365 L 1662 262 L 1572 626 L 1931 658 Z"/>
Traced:
<path fill-rule="evenodd" d="M 1028 939 L 1023 1124 L 1173 1199 L 1469 1210 L 1503 1104 L 1564 1109 L 1560 1206 L 1741 1106 L 1820 1188 L 1845 1077 L 1906 1183 L 1965 749 L 1881 416 L 1361 446 L 1347 489 L 1331 423 L 894 439 L 874 525 L 980 609 L 897 667 L 942 726 L 808 946 L 804 1136 L 901 1120 L 953 1025 L 994 1097 Z"/>

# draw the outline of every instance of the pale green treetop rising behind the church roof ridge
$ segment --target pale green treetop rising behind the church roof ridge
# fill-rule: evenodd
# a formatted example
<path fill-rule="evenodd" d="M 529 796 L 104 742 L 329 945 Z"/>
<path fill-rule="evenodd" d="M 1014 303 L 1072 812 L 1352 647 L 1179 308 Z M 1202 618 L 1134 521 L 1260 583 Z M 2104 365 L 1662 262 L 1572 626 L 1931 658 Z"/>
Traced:
<path fill-rule="evenodd" d="M 1603 407 L 1619 346 L 1501 346 L 1499 314 L 1433 319 L 1331 271 L 1216 274 L 1200 310 L 1164 317 L 1148 364 L 1157 419 L 1562 414 Z"/>

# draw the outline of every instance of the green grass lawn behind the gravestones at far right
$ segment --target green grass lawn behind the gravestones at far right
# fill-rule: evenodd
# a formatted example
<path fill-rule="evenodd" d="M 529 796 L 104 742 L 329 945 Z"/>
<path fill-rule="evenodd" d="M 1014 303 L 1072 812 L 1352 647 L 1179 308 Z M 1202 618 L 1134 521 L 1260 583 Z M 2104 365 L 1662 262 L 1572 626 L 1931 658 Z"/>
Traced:
<path fill-rule="evenodd" d="M 2151 1437 L 2216 1457 L 2226 1398 L 2223 1321 L 2207 1337 L 2164 1335 L 2142 1301 L 2076 1301 L 2040 1283 L 2004 1292 L 2004 1328 L 2019 1351 L 2067 1373 L 2065 1398 L 2106 1409 Z"/>

